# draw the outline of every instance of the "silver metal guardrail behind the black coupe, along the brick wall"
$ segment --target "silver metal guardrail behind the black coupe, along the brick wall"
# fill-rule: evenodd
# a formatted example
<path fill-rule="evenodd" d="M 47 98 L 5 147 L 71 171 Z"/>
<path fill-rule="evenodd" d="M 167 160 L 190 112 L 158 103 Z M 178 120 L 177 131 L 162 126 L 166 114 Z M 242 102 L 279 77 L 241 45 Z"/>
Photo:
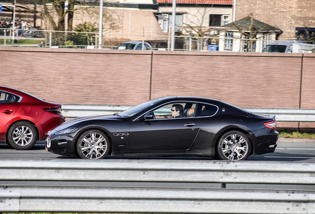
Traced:
<path fill-rule="evenodd" d="M 62 105 L 65 117 L 97 116 L 119 113 L 133 106 L 122 105 Z M 259 114 L 275 114 L 279 122 L 315 122 L 315 109 L 299 108 L 245 108 Z"/>

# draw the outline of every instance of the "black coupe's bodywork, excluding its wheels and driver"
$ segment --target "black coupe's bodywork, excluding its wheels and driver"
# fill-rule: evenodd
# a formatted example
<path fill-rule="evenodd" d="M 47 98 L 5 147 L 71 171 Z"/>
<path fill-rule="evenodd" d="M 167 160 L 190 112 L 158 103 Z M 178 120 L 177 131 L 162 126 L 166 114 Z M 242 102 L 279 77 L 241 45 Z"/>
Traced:
<path fill-rule="evenodd" d="M 168 113 L 164 114 L 174 103 L 182 104 L 184 112 L 194 108 L 194 115 L 173 118 Z M 133 111 L 134 114 L 128 114 Z M 155 117 L 145 119 L 149 112 Z M 274 118 L 274 115 L 255 114 L 207 98 L 164 97 L 117 115 L 82 117 L 67 121 L 48 132 L 51 146 L 47 150 L 59 155 L 77 156 L 78 138 L 87 130 L 97 129 L 108 137 L 109 155 L 113 156 L 215 157 L 220 138 L 228 132 L 236 131 L 249 139 L 250 154 L 259 155 L 275 150 L 278 132 L 264 125 L 275 121 Z M 69 134 L 56 134 L 70 127 L 75 130 Z"/>

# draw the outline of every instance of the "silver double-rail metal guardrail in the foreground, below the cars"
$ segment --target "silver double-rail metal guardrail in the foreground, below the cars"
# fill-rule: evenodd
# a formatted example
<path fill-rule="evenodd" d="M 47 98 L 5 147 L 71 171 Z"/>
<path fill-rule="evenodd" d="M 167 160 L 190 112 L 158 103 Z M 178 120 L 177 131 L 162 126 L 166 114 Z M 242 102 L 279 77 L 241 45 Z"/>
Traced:
<path fill-rule="evenodd" d="M 0 160 L 0 180 L 315 184 L 315 163 L 212 160 Z M 310 191 L 6 187 L 0 212 L 314 214 Z"/>

